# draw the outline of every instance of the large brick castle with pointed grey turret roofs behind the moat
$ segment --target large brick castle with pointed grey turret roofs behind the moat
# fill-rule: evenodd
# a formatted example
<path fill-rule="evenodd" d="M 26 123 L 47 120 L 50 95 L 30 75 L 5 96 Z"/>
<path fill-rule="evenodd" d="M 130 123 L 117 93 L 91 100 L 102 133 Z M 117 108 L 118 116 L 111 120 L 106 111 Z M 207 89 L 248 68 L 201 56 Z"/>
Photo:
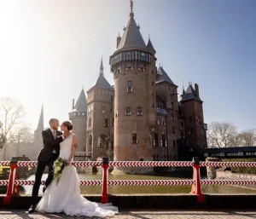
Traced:
<path fill-rule="evenodd" d="M 69 118 L 79 139 L 76 160 L 191 160 L 207 148 L 198 84 L 189 84 L 178 100 L 177 85 L 163 66 L 156 67 L 155 54 L 150 38 L 144 42 L 131 1 L 130 18 L 109 60 L 114 86 L 101 63 L 87 99 L 82 89 L 76 104 L 73 100 Z"/>

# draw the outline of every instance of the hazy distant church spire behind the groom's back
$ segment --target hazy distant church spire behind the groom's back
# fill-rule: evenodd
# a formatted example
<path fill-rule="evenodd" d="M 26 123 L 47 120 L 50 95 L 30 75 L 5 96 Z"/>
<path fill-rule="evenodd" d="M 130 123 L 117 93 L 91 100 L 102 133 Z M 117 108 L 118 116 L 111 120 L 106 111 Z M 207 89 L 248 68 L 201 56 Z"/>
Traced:
<path fill-rule="evenodd" d="M 35 146 L 35 153 L 34 158 L 38 156 L 38 152 L 43 147 L 43 138 L 42 138 L 42 131 L 44 130 L 44 104 L 41 109 L 39 121 L 38 121 L 38 128 L 34 131 L 34 146 Z"/>

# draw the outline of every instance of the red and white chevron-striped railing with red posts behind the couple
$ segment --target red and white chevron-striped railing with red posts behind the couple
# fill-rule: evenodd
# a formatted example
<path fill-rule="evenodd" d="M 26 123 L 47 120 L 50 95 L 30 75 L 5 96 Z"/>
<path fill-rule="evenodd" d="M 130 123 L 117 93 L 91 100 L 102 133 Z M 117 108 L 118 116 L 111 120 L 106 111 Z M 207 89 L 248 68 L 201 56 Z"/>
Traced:
<path fill-rule="evenodd" d="M 8 186 L 3 199 L 4 205 L 9 205 L 11 198 L 19 195 L 19 186 L 33 185 L 34 181 L 18 180 L 18 167 L 37 166 L 37 161 L 0 161 L 0 166 L 9 166 L 9 180 L 0 180 L 0 186 Z M 191 194 L 197 196 L 198 202 L 204 202 L 202 185 L 256 185 L 254 180 L 201 180 L 201 167 L 256 167 L 256 162 L 200 162 L 198 158 L 193 161 L 75 161 L 76 167 L 102 166 L 102 180 L 80 180 L 80 186 L 102 186 L 102 204 L 108 203 L 108 186 L 191 186 Z M 191 180 L 108 180 L 109 167 L 192 167 Z M 44 185 L 44 182 L 42 182 Z"/>

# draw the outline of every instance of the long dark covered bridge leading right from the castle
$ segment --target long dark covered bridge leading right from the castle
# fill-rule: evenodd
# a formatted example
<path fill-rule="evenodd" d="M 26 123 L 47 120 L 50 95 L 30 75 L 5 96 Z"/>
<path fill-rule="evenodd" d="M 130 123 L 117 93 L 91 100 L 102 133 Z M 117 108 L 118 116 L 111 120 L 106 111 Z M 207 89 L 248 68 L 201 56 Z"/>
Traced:
<path fill-rule="evenodd" d="M 256 158 L 256 147 L 224 147 L 204 150 L 204 157 L 212 158 Z"/>

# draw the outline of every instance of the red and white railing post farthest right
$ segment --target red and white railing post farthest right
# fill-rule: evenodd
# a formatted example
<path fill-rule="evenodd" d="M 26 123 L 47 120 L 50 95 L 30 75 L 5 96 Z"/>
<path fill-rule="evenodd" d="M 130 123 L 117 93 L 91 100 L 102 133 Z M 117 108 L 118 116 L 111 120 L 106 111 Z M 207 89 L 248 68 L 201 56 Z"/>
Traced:
<path fill-rule="evenodd" d="M 197 201 L 200 203 L 205 202 L 203 193 L 201 193 L 201 175 L 200 175 L 200 160 L 199 158 L 193 158 L 193 181 L 195 184 L 192 185 L 191 192 L 197 195 Z"/>

